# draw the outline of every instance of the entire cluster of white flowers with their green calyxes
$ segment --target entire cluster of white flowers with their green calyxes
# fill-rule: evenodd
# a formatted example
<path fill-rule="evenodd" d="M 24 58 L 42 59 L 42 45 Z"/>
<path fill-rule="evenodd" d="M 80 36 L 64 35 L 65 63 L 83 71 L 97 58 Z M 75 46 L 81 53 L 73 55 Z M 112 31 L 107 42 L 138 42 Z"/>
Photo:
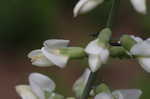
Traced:
<path fill-rule="evenodd" d="M 86 13 L 103 2 L 104 0 L 80 0 L 74 8 L 74 16 Z M 131 3 L 136 11 L 146 13 L 145 0 L 131 0 Z M 70 59 L 88 58 L 89 67 L 73 85 L 75 97 L 64 97 L 58 94 L 54 81 L 40 73 L 29 75 L 29 85 L 17 85 L 15 87 L 17 93 L 22 99 L 82 99 L 91 74 L 95 74 L 110 57 L 137 59 L 144 70 L 150 72 L 150 39 L 143 40 L 140 37 L 123 35 L 119 41 L 120 45 L 114 46 L 110 43 L 111 35 L 111 30 L 104 28 L 85 48 L 69 47 L 69 40 L 46 40 L 43 47 L 28 54 L 32 65 L 38 67 L 56 65 L 64 68 Z M 106 84 L 91 86 L 89 91 L 88 96 L 93 99 L 139 99 L 142 94 L 139 89 L 112 91 Z"/>

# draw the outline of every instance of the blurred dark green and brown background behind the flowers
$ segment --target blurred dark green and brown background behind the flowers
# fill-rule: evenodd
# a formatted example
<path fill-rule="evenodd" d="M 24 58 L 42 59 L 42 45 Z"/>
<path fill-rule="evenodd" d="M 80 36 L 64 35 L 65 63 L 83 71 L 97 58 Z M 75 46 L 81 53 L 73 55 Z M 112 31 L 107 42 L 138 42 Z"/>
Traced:
<path fill-rule="evenodd" d="M 70 61 L 65 69 L 38 68 L 31 65 L 27 54 L 41 48 L 51 38 L 69 39 L 72 46 L 85 46 L 104 28 L 109 3 L 92 12 L 73 18 L 73 7 L 78 0 L 0 0 L 0 97 L 20 99 L 14 87 L 27 84 L 31 72 L 49 75 L 57 84 L 57 91 L 65 96 L 74 95 L 73 82 L 82 74 L 87 60 Z M 149 5 L 149 1 L 147 2 Z M 149 9 L 149 8 L 148 8 Z M 113 24 L 113 40 L 122 34 L 150 37 L 150 11 L 143 16 L 136 13 L 129 0 L 121 0 Z M 98 75 L 112 89 L 140 88 L 141 99 L 150 97 L 150 76 L 135 60 L 110 59 Z"/>

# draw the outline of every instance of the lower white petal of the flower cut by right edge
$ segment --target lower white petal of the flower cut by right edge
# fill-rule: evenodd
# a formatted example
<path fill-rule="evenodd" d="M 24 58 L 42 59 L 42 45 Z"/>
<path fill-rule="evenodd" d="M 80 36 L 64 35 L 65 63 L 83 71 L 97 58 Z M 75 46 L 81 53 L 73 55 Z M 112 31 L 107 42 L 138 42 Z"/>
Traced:
<path fill-rule="evenodd" d="M 139 64 L 142 66 L 142 68 L 150 73 L 150 58 L 139 58 Z"/>

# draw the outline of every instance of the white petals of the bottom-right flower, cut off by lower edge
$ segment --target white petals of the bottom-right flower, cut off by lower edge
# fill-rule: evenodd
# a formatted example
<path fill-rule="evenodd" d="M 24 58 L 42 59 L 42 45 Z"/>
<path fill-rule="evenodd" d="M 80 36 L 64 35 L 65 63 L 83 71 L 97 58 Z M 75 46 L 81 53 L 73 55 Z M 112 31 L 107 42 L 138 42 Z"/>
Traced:
<path fill-rule="evenodd" d="M 142 94 L 138 89 L 115 90 L 112 93 L 102 92 L 94 99 L 139 99 Z"/>

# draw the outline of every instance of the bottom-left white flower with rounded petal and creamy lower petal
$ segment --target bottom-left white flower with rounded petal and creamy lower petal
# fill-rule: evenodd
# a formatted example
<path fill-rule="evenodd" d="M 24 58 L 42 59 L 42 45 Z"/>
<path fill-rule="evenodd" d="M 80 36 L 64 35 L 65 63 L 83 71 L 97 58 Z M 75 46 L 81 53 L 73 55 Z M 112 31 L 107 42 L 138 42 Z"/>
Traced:
<path fill-rule="evenodd" d="M 16 91 L 22 99 L 45 99 L 45 92 L 53 92 L 55 86 L 49 77 L 32 73 L 29 76 L 29 85 L 18 85 Z"/>

